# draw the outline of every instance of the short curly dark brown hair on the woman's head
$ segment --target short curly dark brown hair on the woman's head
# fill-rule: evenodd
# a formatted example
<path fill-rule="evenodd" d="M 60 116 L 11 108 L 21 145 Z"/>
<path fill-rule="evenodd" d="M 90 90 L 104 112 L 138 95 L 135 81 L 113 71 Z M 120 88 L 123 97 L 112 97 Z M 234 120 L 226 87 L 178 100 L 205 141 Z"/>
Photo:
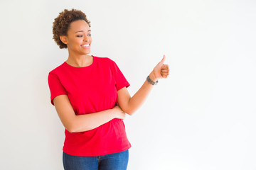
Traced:
<path fill-rule="evenodd" d="M 71 9 L 70 11 L 64 9 L 55 18 L 53 22 L 53 40 L 55 40 L 60 49 L 67 48 L 67 45 L 60 40 L 60 35 L 68 35 L 70 23 L 78 20 L 84 20 L 90 26 L 90 21 L 87 20 L 85 13 L 77 9 Z"/>

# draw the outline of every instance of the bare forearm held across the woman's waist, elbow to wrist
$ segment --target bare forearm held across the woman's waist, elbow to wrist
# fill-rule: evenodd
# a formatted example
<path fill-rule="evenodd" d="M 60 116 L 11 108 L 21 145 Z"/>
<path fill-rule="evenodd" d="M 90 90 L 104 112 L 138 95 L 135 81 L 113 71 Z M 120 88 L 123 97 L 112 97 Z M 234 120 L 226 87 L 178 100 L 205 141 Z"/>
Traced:
<path fill-rule="evenodd" d="M 116 118 L 116 111 L 108 109 L 97 113 L 76 115 L 73 120 L 72 132 L 84 132 L 103 125 Z"/>

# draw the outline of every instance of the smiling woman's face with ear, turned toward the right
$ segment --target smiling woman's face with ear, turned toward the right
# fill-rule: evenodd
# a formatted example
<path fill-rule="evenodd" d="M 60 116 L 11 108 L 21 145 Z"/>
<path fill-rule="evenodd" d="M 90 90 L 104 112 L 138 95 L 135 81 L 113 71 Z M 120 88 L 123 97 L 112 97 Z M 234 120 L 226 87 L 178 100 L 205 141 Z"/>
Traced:
<path fill-rule="evenodd" d="M 70 23 L 68 35 L 60 36 L 60 40 L 68 46 L 68 51 L 73 54 L 87 55 L 90 53 L 90 45 L 92 43 L 91 30 L 83 20 Z"/>

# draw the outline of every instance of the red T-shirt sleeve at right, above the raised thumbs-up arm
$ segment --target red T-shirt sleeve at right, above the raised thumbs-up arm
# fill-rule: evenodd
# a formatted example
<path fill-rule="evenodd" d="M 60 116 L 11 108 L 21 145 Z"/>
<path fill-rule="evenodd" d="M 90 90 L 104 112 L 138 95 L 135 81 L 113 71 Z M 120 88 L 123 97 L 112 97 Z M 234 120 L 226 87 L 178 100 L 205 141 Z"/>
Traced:
<path fill-rule="evenodd" d="M 122 89 L 123 87 L 129 87 L 129 82 L 127 81 L 127 79 L 125 79 L 124 74 L 122 74 L 121 70 L 114 61 L 112 61 L 112 72 L 115 79 L 115 86 L 117 88 L 117 91 L 119 91 L 119 89 Z"/>

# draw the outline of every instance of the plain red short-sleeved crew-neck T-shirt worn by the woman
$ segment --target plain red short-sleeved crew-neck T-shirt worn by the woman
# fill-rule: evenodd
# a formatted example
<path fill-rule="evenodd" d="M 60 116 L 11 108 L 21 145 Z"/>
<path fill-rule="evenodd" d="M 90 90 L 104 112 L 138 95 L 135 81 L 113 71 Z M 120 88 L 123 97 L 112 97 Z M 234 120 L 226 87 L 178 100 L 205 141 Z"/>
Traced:
<path fill-rule="evenodd" d="M 105 111 L 117 105 L 117 91 L 129 82 L 109 58 L 93 57 L 87 67 L 73 67 L 64 62 L 48 75 L 50 101 L 68 95 L 76 115 Z M 53 104 L 54 105 L 54 104 Z M 63 152 L 74 156 L 100 156 L 122 152 L 131 144 L 122 119 L 114 118 L 85 132 L 65 130 Z"/>

